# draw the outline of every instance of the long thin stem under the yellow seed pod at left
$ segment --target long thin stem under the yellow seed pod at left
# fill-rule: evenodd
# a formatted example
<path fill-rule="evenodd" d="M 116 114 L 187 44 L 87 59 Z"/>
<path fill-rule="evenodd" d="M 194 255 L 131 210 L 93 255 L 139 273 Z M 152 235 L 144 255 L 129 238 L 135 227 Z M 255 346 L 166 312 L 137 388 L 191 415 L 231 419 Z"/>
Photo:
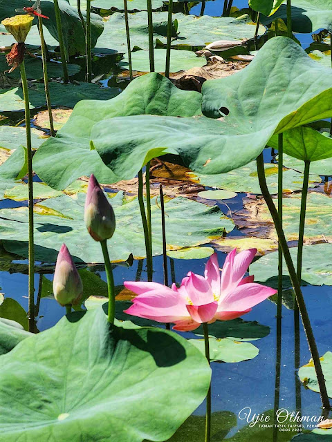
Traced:
<path fill-rule="evenodd" d="M 35 247 L 33 243 L 33 150 L 31 147 L 30 104 L 28 81 L 24 60 L 19 65 L 21 71 L 24 108 L 26 117 L 26 151 L 28 158 L 28 202 L 29 202 L 29 245 L 28 245 L 28 318 L 29 332 L 35 329 Z"/>

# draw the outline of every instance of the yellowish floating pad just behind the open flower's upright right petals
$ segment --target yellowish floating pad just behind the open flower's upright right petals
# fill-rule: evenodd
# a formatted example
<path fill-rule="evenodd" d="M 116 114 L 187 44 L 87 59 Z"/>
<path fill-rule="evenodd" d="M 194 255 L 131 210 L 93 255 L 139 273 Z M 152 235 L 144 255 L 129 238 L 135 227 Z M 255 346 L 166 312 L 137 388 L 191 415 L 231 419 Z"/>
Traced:
<path fill-rule="evenodd" d="M 240 238 L 239 236 L 234 236 L 234 238 L 227 236 L 219 240 L 214 240 L 213 246 L 216 250 L 224 252 L 229 252 L 232 249 L 237 249 L 238 252 L 248 249 L 257 249 L 257 253 L 265 255 L 266 252 L 277 250 L 278 242 L 270 238 L 256 238 L 255 236 L 243 236 Z"/>

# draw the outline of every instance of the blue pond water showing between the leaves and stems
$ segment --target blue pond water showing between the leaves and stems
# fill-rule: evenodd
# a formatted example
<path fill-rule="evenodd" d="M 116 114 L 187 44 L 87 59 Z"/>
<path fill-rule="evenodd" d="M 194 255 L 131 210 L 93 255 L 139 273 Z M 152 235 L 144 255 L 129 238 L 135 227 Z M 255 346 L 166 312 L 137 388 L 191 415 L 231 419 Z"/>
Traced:
<path fill-rule="evenodd" d="M 243 0 L 235 0 L 233 6 L 237 8 L 248 7 L 248 2 Z M 223 1 L 207 1 L 205 5 L 205 15 L 219 16 L 223 8 Z M 198 15 L 201 10 L 201 4 L 197 4 L 190 10 L 190 14 Z M 317 32 L 317 31 L 316 31 Z M 303 48 L 307 48 L 313 41 L 311 34 L 302 34 L 296 36 L 301 41 Z M 102 64 L 102 61 L 100 61 Z M 124 83 L 118 83 L 116 75 L 109 74 L 109 70 L 105 70 L 105 78 L 100 80 L 103 86 L 124 87 Z M 271 160 L 270 152 L 266 151 L 265 160 Z M 207 188 L 208 189 L 208 188 Z M 245 194 L 239 193 L 237 198 L 226 200 L 230 206 L 232 213 L 243 208 L 243 197 Z M 222 202 L 219 204 L 221 210 L 229 215 L 228 207 Z M 0 202 L 0 208 L 16 207 L 26 205 L 12 200 L 3 200 Z M 243 233 L 237 228 L 232 231 L 232 236 L 242 236 Z M 219 263 L 222 267 L 225 260 L 225 253 L 218 252 Z M 322 257 L 324 259 L 324 257 Z M 26 260 L 15 261 L 17 264 L 24 264 Z M 183 276 L 188 271 L 203 274 L 205 260 L 173 260 L 174 265 L 173 279 L 181 282 Z M 161 256 L 154 258 L 154 281 L 163 282 L 163 260 Z M 169 260 L 169 265 L 171 260 Z M 116 267 L 114 270 L 114 278 L 116 286 L 123 285 L 124 280 L 135 280 L 138 267 L 142 265 L 141 280 L 146 280 L 145 260 L 143 262 L 134 261 L 132 267 Z M 97 271 L 102 280 L 106 281 L 104 271 Z M 169 267 L 169 274 L 171 268 Z M 52 273 L 44 273 L 48 280 L 52 280 Z M 39 276 L 35 276 L 35 287 L 39 286 Z M 28 309 L 28 276 L 23 273 L 9 273 L 0 271 L 0 287 L 6 297 L 17 300 L 24 309 Z M 320 354 L 324 354 L 331 349 L 329 347 L 329 336 L 332 321 L 332 292 L 329 287 L 303 287 L 306 305 L 308 307 L 309 316 L 313 325 L 313 331 L 320 349 Z M 276 305 L 270 300 L 266 300 L 255 307 L 249 314 L 244 316 L 245 320 L 255 320 L 262 325 L 270 327 L 270 334 L 265 338 L 252 341 L 259 348 L 259 355 L 250 361 L 241 363 L 212 363 L 212 412 L 228 412 L 225 418 L 221 419 L 220 428 L 212 437 L 212 441 L 217 442 L 225 439 L 234 441 L 252 441 L 252 442 L 269 442 L 269 441 L 289 441 L 295 432 L 282 431 L 274 432 L 273 428 L 259 427 L 259 424 L 248 427 L 244 416 L 243 409 L 251 409 L 252 414 L 262 414 L 270 412 L 275 407 L 276 395 L 275 390 L 276 375 L 278 376 L 278 361 L 276 360 L 277 352 L 277 333 L 276 333 Z M 324 318 L 322 318 L 324 311 Z M 42 298 L 39 307 L 39 316 L 37 318 L 37 328 L 39 331 L 48 329 L 57 323 L 57 321 L 65 314 L 65 309 L 60 307 L 54 298 Z M 304 365 L 310 358 L 308 345 L 302 325 L 300 326 L 300 345 L 299 363 Z M 294 343 L 294 318 L 293 310 L 282 307 L 282 336 L 281 336 L 281 366 L 280 385 L 279 385 L 279 405 L 277 408 L 286 409 L 288 412 L 299 410 L 302 416 L 319 416 L 321 414 L 320 396 L 301 385 L 299 389 L 297 383 L 297 374 L 295 367 L 295 343 Z M 296 393 L 297 392 L 297 393 Z M 278 401 L 277 401 L 278 404 Z M 247 410 L 248 411 L 248 410 Z M 195 416 L 203 416 L 205 414 L 205 403 L 203 403 L 194 413 Z M 219 416 L 219 415 L 215 415 Z M 218 419 L 220 416 L 218 417 Z M 226 419 L 227 418 L 227 419 Z M 216 418 L 217 419 L 217 418 Z M 225 422 L 224 422 L 225 421 Z M 273 419 L 271 419 L 273 421 Z M 224 423 L 224 425 L 223 425 Z M 201 425 L 199 421 L 197 425 Z M 246 427 L 246 428 L 244 428 Z M 193 420 L 193 428 L 195 421 Z M 213 425 L 212 425 L 213 428 Z M 179 430 L 181 431 L 181 430 Z M 178 434 L 181 434 L 180 432 Z M 213 430 L 212 430 L 213 434 Z M 181 442 L 183 439 L 176 439 L 174 436 L 171 440 Z M 196 440 L 200 442 L 194 435 L 188 442 Z M 202 439 L 203 441 L 203 439 Z"/>

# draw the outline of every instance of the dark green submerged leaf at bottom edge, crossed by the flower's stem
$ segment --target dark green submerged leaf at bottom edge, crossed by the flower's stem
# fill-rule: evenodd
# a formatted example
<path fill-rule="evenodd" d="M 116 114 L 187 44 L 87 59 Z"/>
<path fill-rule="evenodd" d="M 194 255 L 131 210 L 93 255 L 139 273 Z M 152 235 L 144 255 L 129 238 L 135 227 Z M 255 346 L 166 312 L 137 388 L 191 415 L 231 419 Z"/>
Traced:
<path fill-rule="evenodd" d="M 214 412 L 211 415 L 211 441 L 223 441 L 232 427 L 237 425 L 237 416 L 232 412 Z M 190 416 L 167 442 L 188 442 L 195 435 L 196 442 L 205 441 L 205 416 Z"/>

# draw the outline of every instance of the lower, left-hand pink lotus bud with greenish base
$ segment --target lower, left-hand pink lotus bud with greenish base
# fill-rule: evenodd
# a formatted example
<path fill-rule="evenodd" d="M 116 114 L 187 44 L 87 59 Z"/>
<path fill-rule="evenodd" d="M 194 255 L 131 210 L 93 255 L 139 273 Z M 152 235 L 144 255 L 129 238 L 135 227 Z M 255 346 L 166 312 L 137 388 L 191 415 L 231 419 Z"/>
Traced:
<path fill-rule="evenodd" d="M 57 256 L 55 273 L 53 279 L 53 294 L 59 305 L 77 305 L 83 291 L 80 275 L 75 267 L 71 253 L 66 244 L 62 247 Z"/>

